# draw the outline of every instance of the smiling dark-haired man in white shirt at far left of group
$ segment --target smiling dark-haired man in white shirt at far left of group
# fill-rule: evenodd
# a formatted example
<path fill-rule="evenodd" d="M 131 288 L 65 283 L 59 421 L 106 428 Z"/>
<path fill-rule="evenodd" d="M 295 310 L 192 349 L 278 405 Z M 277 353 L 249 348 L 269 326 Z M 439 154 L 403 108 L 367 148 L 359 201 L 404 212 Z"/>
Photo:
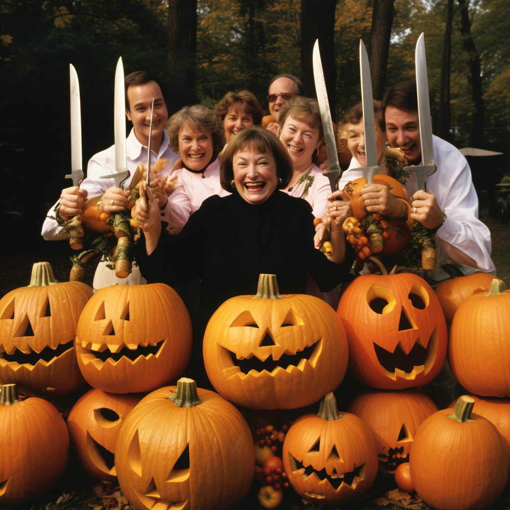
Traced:
<path fill-rule="evenodd" d="M 165 131 L 166 121 L 168 120 L 165 84 L 156 74 L 147 71 L 135 71 L 128 74 L 124 79 L 124 83 L 125 113 L 127 119 L 133 123 L 133 129 L 126 139 L 126 164 L 127 169 L 131 172 L 130 179 L 133 179 L 139 163 L 147 163 L 152 97 L 154 97 L 150 143 L 152 161 L 167 160 L 167 165 L 160 172 L 160 175 L 170 173 L 173 163 L 179 156 L 170 148 L 168 135 Z M 115 187 L 113 179 L 100 179 L 101 175 L 111 175 L 113 173 L 115 173 L 115 145 L 98 152 L 90 159 L 87 165 L 86 179 L 80 187 L 72 186 L 62 190 L 59 202 L 49 210 L 48 216 L 55 216 L 57 213 L 59 219 L 67 220 L 70 216 L 82 214 L 85 201 L 101 194 L 103 194 L 103 201 L 99 206 L 100 213 L 115 214 L 123 211 L 127 197 L 130 194 L 129 185 L 131 180 L 129 179 L 126 182 L 126 188 L 121 190 Z M 160 207 L 163 208 L 168 197 L 163 192 L 156 192 L 156 194 L 160 200 Z M 65 237 L 58 235 L 60 228 L 55 219 L 46 218 L 42 226 L 42 236 L 46 240 L 65 239 Z M 112 277 L 108 274 L 110 272 L 111 270 L 106 265 L 99 265 L 94 278 L 95 289 L 104 286 L 103 283 L 114 285 L 115 276 Z M 103 280 L 103 283 L 101 283 L 101 280 Z M 117 280 L 122 285 L 128 284 L 127 280 L 131 280 L 133 284 L 140 283 L 139 278 L 131 277 L 131 275 L 127 279 L 117 278 Z"/>

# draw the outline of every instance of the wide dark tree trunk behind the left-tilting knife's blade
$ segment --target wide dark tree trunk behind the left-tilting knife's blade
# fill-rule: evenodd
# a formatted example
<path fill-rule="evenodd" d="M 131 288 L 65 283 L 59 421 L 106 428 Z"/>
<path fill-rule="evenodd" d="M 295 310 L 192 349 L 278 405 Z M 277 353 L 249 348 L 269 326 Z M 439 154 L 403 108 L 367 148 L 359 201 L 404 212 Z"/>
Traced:
<path fill-rule="evenodd" d="M 315 92 L 312 54 L 319 39 L 319 48 L 326 81 L 331 118 L 335 121 L 335 87 L 337 68 L 335 61 L 335 9 L 338 0 L 301 0 L 301 81 L 309 97 Z"/>

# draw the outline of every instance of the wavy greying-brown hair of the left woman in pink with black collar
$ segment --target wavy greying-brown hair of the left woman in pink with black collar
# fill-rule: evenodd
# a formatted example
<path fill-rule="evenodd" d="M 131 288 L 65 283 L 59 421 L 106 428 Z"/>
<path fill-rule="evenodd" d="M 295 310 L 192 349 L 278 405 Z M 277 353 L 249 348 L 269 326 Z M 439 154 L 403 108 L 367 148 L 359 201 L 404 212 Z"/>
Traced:
<path fill-rule="evenodd" d="M 168 119 L 165 129 L 170 139 L 170 147 L 174 151 L 179 150 L 179 131 L 185 124 L 193 131 L 210 133 L 215 152 L 221 152 L 225 145 L 223 124 L 210 108 L 203 105 L 185 106 Z"/>

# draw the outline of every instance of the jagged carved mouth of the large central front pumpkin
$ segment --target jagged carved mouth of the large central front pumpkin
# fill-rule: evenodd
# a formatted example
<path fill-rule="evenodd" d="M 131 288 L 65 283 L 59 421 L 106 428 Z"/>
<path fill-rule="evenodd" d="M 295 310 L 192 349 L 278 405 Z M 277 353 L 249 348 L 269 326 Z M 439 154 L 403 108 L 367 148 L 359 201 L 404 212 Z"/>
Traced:
<path fill-rule="evenodd" d="M 257 358 L 254 354 L 250 358 L 242 358 L 238 360 L 235 352 L 225 349 L 228 353 L 230 353 L 233 365 L 229 368 L 224 367 L 223 370 L 233 371 L 233 369 L 237 369 L 234 370 L 235 374 L 238 374 L 240 377 L 245 377 L 250 372 L 253 375 L 258 375 L 264 370 L 271 374 L 277 369 L 287 372 L 291 372 L 293 369 L 298 369 L 302 372 L 304 367 L 307 365 L 311 368 L 315 366 L 317 356 L 321 349 L 322 338 L 316 340 L 309 347 L 304 347 L 304 349 L 298 350 L 295 353 L 284 353 L 277 360 L 274 360 L 273 355 L 269 354 L 265 361 L 259 360 L 259 358 Z"/>

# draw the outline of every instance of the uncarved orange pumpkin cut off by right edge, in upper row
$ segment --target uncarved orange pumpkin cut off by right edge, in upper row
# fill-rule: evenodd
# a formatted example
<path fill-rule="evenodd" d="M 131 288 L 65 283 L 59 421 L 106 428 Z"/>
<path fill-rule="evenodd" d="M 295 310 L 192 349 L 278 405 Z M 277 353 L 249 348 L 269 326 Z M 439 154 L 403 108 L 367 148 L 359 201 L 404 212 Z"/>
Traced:
<path fill-rule="evenodd" d="M 453 317 L 448 361 L 453 376 L 476 395 L 510 397 L 510 291 L 494 279 L 489 293 L 468 297 Z"/>

